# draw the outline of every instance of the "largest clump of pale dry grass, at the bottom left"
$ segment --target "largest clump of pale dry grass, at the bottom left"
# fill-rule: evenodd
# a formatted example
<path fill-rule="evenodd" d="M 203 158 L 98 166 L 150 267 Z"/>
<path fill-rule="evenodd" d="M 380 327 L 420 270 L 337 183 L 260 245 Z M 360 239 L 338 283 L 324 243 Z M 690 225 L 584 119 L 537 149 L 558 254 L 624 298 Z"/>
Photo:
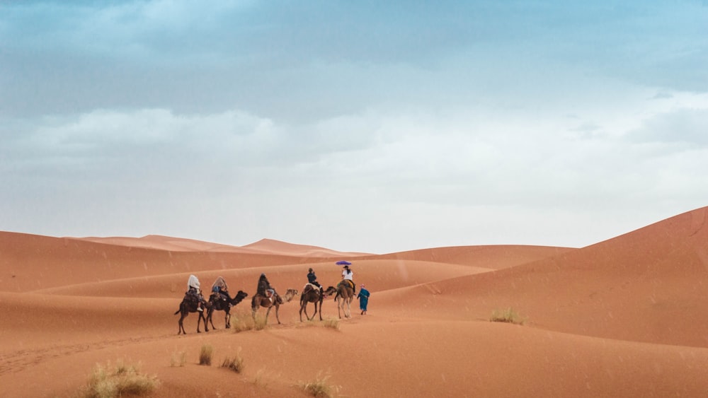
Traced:
<path fill-rule="evenodd" d="M 128 395 L 149 394 L 157 386 L 159 380 L 156 376 L 139 373 L 139 365 L 127 365 L 122 361 L 111 368 L 110 363 L 105 367 L 96 365 L 89 375 L 89 382 L 81 390 L 81 397 L 86 398 L 113 398 Z"/>

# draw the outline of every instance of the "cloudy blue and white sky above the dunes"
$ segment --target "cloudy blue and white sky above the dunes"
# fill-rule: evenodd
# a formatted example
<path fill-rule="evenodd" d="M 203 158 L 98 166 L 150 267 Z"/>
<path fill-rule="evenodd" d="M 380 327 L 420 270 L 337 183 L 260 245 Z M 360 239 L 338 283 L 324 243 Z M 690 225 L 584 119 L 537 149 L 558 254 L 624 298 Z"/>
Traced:
<path fill-rule="evenodd" d="M 583 247 L 708 205 L 708 1 L 0 1 L 0 230 Z"/>

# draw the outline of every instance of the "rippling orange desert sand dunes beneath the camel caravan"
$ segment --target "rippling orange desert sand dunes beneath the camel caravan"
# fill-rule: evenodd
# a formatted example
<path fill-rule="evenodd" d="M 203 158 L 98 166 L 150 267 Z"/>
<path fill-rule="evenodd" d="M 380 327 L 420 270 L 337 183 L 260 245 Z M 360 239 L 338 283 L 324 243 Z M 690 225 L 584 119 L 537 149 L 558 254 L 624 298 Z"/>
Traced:
<path fill-rule="evenodd" d="M 367 254 L 260 240 L 244 247 L 149 235 L 0 232 L 0 397 L 73 397 L 94 365 L 139 363 L 153 397 L 704 397 L 708 392 L 708 208 L 582 248 L 523 245 Z M 314 242 L 316 243 L 316 242 Z M 249 293 L 261 273 L 302 291 L 312 267 L 336 285 L 352 262 L 367 315 L 299 320 L 299 295 L 263 330 L 178 335 L 188 276 Z M 513 308 L 523 324 L 490 322 Z M 308 307 L 312 315 L 312 305 Z M 333 300 L 324 318 L 338 320 Z M 258 310 L 259 316 L 265 310 Z M 199 365 L 202 345 L 214 363 Z M 173 365 L 185 353 L 183 366 Z M 239 355 L 244 370 L 220 367 Z"/>

